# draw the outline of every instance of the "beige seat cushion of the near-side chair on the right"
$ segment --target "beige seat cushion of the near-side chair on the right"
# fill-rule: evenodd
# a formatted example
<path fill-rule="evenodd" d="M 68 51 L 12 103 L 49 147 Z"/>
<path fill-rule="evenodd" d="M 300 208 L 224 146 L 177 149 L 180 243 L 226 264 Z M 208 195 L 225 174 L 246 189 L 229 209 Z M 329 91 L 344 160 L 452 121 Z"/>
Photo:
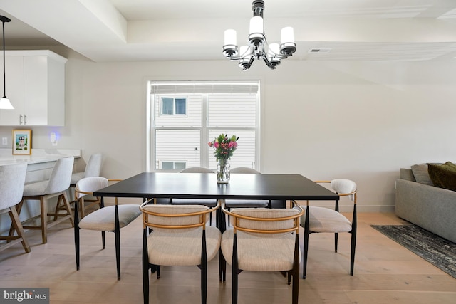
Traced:
<path fill-rule="evenodd" d="M 222 235 L 222 252 L 227 263 L 232 263 L 233 229 Z M 289 271 L 293 268 L 295 234 L 264 234 L 258 237 L 237 231 L 237 258 L 244 271 Z M 299 252 L 301 255 L 301 251 Z M 301 259 L 301 258 L 299 258 Z"/>

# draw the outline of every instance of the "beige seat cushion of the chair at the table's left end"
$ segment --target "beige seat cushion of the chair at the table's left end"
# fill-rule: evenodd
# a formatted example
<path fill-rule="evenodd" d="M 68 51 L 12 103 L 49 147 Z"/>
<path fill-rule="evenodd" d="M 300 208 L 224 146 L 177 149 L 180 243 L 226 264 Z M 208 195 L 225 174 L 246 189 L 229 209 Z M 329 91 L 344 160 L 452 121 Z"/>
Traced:
<path fill-rule="evenodd" d="M 123 228 L 134 221 L 140 214 L 139 205 L 118 205 L 119 224 Z M 84 216 L 79 222 L 79 228 L 97 231 L 113 231 L 115 224 L 115 206 L 106 206 Z"/>

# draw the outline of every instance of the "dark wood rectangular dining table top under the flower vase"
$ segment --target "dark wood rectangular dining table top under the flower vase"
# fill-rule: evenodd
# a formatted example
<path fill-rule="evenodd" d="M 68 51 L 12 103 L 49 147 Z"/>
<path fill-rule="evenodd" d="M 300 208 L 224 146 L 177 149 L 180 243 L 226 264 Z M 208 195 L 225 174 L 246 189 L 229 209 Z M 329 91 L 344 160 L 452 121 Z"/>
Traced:
<path fill-rule="evenodd" d="M 94 195 L 176 199 L 338 199 L 337 194 L 299 174 L 231 174 L 228 184 L 217 184 L 213 173 L 145 172 L 100 189 Z"/>

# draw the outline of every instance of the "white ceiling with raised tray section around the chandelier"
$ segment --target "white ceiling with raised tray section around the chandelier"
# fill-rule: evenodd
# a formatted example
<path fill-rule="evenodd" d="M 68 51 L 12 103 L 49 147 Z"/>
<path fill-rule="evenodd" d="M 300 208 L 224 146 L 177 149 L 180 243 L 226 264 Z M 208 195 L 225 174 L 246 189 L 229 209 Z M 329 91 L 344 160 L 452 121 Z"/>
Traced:
<path fill-rule="evenodd" d="M 293 26 L 291 60 L 456 60 L 456 0 L 265 0 L 269 42 Z M 0 0 L 6 49 L 63 45 L 101 61 L 223 59 L 247 42 L 252 0 Z M 320 48 L 322 52 L 309 53 Z"/>

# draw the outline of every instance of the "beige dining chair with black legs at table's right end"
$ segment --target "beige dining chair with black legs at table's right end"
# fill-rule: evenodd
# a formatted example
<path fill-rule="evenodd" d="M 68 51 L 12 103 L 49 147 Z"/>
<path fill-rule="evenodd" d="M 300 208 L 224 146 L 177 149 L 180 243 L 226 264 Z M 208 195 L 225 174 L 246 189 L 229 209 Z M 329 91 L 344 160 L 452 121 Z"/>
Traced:
<path fill-rule="evenodd" d="M 353 276 L 356 248 L 356 183 L 350 179 L 333 179 L 332 181 L 317 181 L 316 183 L 329 183 L 331 189 L 339 196 L 348 196 L 353 201 L 353 218 L 349 221 L 339 213 L 339 201 L 336 201 L 335 209 L 318 206 L 309 206 L 307 201 L 306 213 L 301 218 L 301 226 L 304 227 L 304 261 L 302 277 L 306 278 L 307 255 L 309 252 L 309 234 L 333 233 L 334 251 L 337 252 L 338 233 L 348 232 L 351 234 L 350 274 Z"/>

